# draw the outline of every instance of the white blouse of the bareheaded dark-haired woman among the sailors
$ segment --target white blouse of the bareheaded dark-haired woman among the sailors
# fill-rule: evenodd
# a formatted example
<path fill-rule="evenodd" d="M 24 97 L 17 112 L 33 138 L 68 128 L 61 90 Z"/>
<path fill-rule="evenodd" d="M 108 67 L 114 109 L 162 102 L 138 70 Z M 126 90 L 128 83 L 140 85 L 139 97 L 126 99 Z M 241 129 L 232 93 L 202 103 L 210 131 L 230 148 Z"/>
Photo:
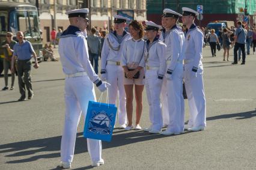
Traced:
<path fill-rule="evenodd" d="M 130 68 L 145 67 L 144 48 L 145 41 L 142 39 L 134 40 L 130 38 L 125 41 L 121 49 L 121 65 L 127 65 Z"/>

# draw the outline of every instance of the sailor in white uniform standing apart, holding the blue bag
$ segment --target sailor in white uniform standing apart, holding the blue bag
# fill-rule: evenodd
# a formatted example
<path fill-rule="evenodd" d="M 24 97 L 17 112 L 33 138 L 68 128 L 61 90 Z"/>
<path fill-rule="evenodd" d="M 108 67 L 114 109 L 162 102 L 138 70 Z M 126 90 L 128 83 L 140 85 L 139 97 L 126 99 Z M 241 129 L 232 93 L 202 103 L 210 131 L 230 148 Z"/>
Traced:
<path fill-rule="evenodd" d="M 61 138 L 61 167 L 71 168 L 73 161 L 76 132 L 81 112 L 86 117 L 88 102 L 96 101 L 94 85 L 105 91 L 108 83 L 102 82 L 88 59 L 87 40 L 82 31 L 88 24 L 88 9 L 68 11 L 70 26 L 59 38 L 59 56 L 65 79 L 66 114 Z M 92 166 L 104 163 L 102 143 L 99 140 L 87 139 L 88 152 Z"/>

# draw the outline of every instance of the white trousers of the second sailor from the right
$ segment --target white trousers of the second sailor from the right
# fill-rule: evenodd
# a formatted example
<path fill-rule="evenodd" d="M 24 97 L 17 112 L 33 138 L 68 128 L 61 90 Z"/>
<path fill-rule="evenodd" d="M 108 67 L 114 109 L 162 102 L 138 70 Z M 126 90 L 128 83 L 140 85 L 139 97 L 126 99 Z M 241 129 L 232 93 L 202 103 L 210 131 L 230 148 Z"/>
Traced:
<path fill-rule="evenodd" d="M 167 80 L 170 132 L 184 131 L 183 64 L 177 63 L 172 80 Z"/>

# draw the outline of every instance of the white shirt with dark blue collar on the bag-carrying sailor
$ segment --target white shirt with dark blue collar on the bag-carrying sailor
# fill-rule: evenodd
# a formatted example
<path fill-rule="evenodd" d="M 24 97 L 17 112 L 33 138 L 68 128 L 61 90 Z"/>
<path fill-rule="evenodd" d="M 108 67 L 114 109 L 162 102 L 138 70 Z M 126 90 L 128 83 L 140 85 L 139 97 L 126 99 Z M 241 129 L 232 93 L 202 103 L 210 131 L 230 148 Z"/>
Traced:
<path fill-rule="evenodd" d="M 90 80 L 96 82 L 99 77 L 89 61 L 87 40 L 78 27 L 70 25 L 59 38 L 59 56 L 65 74 L 86 71 Z"/>

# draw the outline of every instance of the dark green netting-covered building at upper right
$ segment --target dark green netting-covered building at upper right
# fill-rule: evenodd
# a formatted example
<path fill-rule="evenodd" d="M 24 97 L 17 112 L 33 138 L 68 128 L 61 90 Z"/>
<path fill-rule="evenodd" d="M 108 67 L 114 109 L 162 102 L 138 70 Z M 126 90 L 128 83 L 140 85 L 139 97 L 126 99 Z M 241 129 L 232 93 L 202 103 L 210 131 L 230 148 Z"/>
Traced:
<path fill-rule="evenodd" d="M 163 8 L 171 8 L 182 13 L 182 7 L 197 10 L 197 5 L 203 5 L 202 26 L 215 20 L 231 20 L 236 23 L 238 20 L 249 19 L 249 25 L 255 23 L 256 0 L 147 0 L 147 18 L 160 24 L 159 18 L 163 13 Z M 245 17 L 245 9 L 249 17 Z M 197 19 L 195 22 L 199 24 Z"/>

